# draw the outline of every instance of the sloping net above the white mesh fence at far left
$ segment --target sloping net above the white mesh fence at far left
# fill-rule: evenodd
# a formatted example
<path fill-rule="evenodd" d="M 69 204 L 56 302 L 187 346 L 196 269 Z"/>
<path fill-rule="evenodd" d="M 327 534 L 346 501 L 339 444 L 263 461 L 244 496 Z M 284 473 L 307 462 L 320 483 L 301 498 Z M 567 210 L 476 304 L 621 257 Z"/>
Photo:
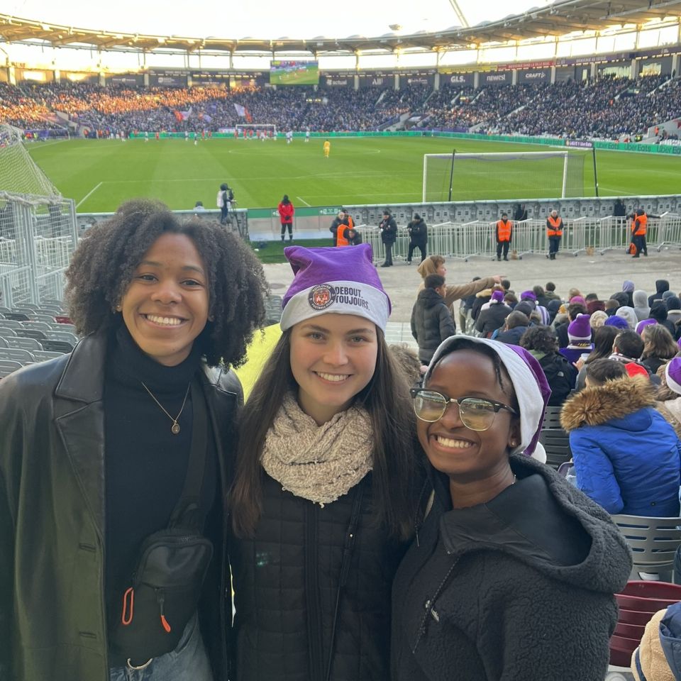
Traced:
<path fill-rule="evenodd" d="M 36 142 L 35 148 L 41 144 Z M 26 150 L 21 131 L 7 125 L 0 125 L 0 192 L 26 198 L 61 198 L 57 187 Z"/>

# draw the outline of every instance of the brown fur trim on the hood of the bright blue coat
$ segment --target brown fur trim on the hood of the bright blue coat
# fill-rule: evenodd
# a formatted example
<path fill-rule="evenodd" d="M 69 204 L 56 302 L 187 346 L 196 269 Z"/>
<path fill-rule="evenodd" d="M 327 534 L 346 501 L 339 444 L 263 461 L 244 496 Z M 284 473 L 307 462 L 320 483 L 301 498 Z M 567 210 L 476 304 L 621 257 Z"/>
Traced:
<path fill-rule="evenodd" d="M 626 377 L 580 390 L 563 405 L 560 425 L 565 431 L 601 426 L 624 419 L 646 406 L 655 406 L 655 389 L 646 377 Z"/>

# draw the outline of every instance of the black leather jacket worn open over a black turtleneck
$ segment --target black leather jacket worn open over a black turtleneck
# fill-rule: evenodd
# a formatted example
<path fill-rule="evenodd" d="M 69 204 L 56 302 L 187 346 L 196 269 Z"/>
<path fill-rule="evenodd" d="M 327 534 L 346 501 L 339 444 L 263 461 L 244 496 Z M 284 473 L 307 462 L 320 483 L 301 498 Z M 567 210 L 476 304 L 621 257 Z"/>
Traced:
<path fill-rule="evenodd" d="M 109 681 L 104 607 L 106 336 L 0 382 L 0 679 Z M 201 380 L 226 492 L 235 375 Z M 199 607 L 216 681 L 227 678 L 231 589 L 225 522 Z M 222 557 L 222 560 L 219 558 Z M 204 602 L 207 608 L 204 607 Z M 210 620 L 210 624 L 206 621 Z"/>

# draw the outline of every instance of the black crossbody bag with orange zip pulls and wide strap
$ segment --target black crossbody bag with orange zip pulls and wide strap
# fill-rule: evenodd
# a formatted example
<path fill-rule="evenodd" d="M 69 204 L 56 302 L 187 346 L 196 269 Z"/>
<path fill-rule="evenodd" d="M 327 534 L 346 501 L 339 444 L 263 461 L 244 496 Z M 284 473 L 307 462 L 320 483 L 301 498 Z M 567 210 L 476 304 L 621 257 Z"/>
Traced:
<path fill-rule="evenodd" d="M 109 648 L 130 665 L 177 648 L 196 612 L 213 544 L 202 536 L 199 515 L 206 467 L 208 418 L 201 388 L 192 383 L 192 445 L 179 501 L 166 529 L 148 536 L 139 550 L 121 609 L 109 628 Z"/>

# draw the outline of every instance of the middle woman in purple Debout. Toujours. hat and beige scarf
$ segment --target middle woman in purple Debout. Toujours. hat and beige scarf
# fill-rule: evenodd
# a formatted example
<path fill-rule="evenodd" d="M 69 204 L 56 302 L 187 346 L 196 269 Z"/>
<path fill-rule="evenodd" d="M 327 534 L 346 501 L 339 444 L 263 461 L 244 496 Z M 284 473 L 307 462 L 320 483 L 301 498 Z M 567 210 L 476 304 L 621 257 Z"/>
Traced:
<path fill-rule="evenodd" d="M 230 678 L 383 681 L 423 487 L 390 301 L 367 243 L 284 253 L 283 333 L 243 410 L 230 497 Z"/>

